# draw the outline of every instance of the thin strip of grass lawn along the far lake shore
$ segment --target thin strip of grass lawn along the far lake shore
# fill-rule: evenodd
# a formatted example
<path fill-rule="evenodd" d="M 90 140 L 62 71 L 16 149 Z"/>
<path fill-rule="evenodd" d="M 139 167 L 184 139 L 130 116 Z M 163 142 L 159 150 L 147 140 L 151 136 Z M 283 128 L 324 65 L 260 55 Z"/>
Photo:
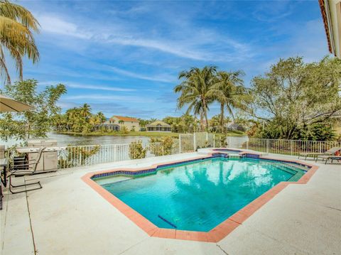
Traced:
<path fill-rule="evenodd" d="M 148 137 L 161 137 L 161 136 L 171 136 L 178 138 L 179 133 L 173 132 L 146 132 L 146 131 L 129 131 L 129 133 L 121 133 L 121 132 L 102 132 L 95 131 L 89 134 L 82 134 L 77 132 L 57 132 L 58 134 L 70 134 L 77 136 L 148 136 Z M 220 136 L 220 134 L 215 134 L 216 136 Z M 244 133 L 240 132 L 227 132 L 227 136 L 245 136 Z"/>

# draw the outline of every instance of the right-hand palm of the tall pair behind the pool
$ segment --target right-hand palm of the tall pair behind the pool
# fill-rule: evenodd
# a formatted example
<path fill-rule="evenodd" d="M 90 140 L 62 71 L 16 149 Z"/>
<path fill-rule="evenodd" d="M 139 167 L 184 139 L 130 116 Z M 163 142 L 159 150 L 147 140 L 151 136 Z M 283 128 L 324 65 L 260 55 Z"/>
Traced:
<path fill-rule="evenodd" d="M 224 129 L 224 108 L 226 107 L 232 119 L 234 114 L 232 109 L 238 105 L 238 97 L 245 92 L 242 76 L 244 72 L 217 72 L 217 81 L 212 86 L 210 93 L 220 102 L 220 130 Z"/>

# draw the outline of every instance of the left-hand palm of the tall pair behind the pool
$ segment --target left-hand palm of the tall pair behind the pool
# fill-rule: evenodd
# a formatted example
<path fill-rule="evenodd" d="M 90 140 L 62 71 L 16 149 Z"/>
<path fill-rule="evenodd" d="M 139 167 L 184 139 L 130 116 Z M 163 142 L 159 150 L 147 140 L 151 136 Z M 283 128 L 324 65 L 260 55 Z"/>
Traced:
<path fill-rule="evenodd" d="M 200 114 L 200 123 L 208 130 L 207 110 L 209 104 L 213 102 L 212 86 L 215 84 L 217 67 L 205 66 L 203 68 L 192 67 L 189 71 L 179 74 L 179 79 L 183 79 L 180 85 L 175 86 L 174 91 L 180 92 L 178 98 L 178 108 L 181 109 L 188 104 L 186 113 L 193 110 L 194 114 Z"/>

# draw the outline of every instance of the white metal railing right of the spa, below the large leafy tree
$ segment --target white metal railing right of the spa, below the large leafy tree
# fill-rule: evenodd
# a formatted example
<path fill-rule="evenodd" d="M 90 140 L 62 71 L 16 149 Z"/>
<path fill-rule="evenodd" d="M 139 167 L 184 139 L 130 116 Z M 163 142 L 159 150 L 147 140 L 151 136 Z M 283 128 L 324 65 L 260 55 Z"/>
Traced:
<path fill-rule="evenodd" d="M 341 142 L 228 137 L 227 146 L 230 148 L 245 148 L 264 153 L 298 156 L 299 153 L 323 153 L 332 147 L 341 147 Z"/>

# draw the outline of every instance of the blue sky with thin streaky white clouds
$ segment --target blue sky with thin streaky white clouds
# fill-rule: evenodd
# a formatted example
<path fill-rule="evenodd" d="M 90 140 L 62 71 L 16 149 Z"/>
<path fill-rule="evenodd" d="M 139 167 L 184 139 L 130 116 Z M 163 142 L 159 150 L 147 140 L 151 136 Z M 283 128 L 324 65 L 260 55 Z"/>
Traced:
<path fill-rule="evenodd" d="M 279 58 L 328 55 L 318 1 L 18 1 L 40 23 L 40 61 L 24 61 L 39 89 L 63 83 L 63 111 L 143 119 L 180 116 L 178 73 L 215 65 L 244 83 Z M 10 67 L 16 77 L 13 65 Z M 219 112 L 210 107 L 209 116 Z"/>

